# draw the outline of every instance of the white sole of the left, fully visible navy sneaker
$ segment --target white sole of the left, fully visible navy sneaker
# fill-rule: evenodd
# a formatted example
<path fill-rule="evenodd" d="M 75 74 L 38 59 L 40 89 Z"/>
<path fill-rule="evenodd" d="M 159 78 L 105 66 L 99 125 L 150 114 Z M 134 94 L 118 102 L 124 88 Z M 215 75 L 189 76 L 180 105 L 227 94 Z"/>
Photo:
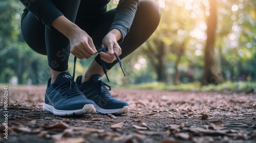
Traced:
<path fill-rule="evenodd" d="M 82 109 L 78 110 L 57 110 L 49 104 L 44 104 L 42 110 L 53 113 L 56 116 L 69 116 L 69 115 L 81 115 L 81 114 L 93 114 L 96 112 L 93 104 L 84 105 Z"/>

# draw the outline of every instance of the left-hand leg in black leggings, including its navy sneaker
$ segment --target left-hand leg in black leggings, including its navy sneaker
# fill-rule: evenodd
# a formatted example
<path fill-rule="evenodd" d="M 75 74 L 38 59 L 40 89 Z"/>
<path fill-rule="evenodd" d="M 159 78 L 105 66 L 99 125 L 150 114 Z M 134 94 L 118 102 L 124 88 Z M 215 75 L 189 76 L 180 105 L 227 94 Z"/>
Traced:
<path fill-rule="evenodd" d="M 53 0 L 52 2 L 69 20 L 75 21 L 80 0 Z M 56 29 L 49 29 L 42 25 L 32 14 L 27 16 L 29 17 L 25 17 L 28 19 L 24 19 L 22 22 L 24 38 L 27 39 L 28 44 L 32 49 L 35 49 L 35 51 L 41 50 L 41 54 L 47 53 L 52 74 L 52 78 L 48 80 L 45 104 L 42 110 L 59 116 L 96 112 L 94 108 L 96 106 L 95 103 L 88 100 L 84 94 L 81 93 L 77 84 L 67 72 L 70 54 L 69 39 Z M 29 18 L 33 21 L 29 21 Z M 26 25 L 26 20 L 27 24 L 32 25 L 35 31 L 29 29 L 30 27 Z M 39 32 L 41 33 L 37 33 L 37 28 L 40 28 Z M 39 47 L 41 45 L 33 42 L 33 38 L 35 38 L 33 36 L 36 36 L 37 41 L 41 43 L 43 43 L 42 41 L 45 42 L 42 44 L 44 48 L 40 49 Z"/>

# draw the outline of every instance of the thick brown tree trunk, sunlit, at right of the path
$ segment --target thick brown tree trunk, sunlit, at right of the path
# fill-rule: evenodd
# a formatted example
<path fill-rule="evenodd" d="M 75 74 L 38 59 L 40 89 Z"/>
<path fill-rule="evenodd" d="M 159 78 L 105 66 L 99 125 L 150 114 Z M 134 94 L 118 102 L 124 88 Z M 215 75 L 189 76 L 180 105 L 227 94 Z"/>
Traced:
<path fill-rule="evenodd" d="M 207 18 L 207 40 L 204 51 L 205 65 L 204 73 L 201 80 L 202 85 L 219 84 L 224 81 L 217 69 L 214 51 L 215 34 L 217 27 L 217 0 L 209 0 L 209 4 L 210 15 Z"/>

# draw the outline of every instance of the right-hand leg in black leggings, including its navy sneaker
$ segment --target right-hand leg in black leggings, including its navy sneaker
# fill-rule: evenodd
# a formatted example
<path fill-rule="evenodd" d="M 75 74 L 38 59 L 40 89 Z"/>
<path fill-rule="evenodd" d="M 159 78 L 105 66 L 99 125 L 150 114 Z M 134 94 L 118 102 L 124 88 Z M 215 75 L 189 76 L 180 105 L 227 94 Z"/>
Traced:
<path fill-rule="evenodd" d="M 102 39 L 108 32 L 114 16 L 115 9 L 104 13 L 100 18 L 98 17 L 99 20 L 95 22 L 95 25 L 97 24 L 95 30 L 90 31 L 90 29 L 84 27 L 84 30 L 93 38 L 96 47 L 100 48 Z M 155 1 L 140 1 L 130 32 L 120 44 L 123 53 L 120 58 L 122 59 L 131 54 L 145 42 L 156 30 L 159 20 L 160 9 L 158 4 Z M 111 69 L 116 63 L 117 60 L 111 64 L 106 64 L 107 69 Z M 122 114 L 129 112 L 129 104 L 127 102 L 115 99 L 108 92 L 108 89 L 111 90 L 111 87 L 103 83 L 101 78 L 103 75 L 100 56 L 98 55 L 86 73 L 83 76 L 77 77 L 78 88 L 88 99 L 95 102 L 96 110 L 100 113 Z M 109 88 L 107 89 L 106 87 Z"/>

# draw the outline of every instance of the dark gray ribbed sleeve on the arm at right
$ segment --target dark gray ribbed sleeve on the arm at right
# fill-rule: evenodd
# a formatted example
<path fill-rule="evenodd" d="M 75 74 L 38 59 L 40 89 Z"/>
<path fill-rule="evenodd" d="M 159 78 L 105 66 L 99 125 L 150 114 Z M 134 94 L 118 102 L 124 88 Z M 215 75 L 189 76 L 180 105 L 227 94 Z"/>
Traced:
<path fill-rule="evenodd" d="M 118 29 L 122 33 L 122 39 L 118 42 L 121 43 L 126 34 L 130 31 L 139 0 L 120 0 L 116 8 L 116 16 L 112 22 L 110 30 Z M 110 31 L 109 30 L 109 31 Z"/>

